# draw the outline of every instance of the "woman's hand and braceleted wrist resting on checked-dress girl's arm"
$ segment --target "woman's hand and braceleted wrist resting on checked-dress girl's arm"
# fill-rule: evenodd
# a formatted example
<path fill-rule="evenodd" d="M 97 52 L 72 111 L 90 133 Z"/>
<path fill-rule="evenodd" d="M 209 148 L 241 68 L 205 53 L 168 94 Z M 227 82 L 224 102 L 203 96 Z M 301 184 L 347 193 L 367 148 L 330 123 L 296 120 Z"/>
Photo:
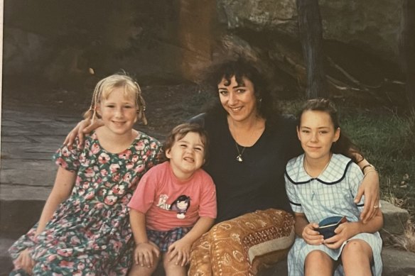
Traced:
<path fill-rule="evenodd" d="M 357 165 L 362 170 L 365 178 L 362 180 L 362 184 L 357 190 L 355 197 L 355 203 L 360 202 L 362 195 L 365 194 L 365 207 L 363 208 L 362 214 L 360 214 L 360 220 L 363 223 L 367 223 L 377 214 L 377 208 L 379 206 L 379 175 L 377 170 L 374 169 L 370 162 L 368 162 L 362 155 L 357 156 Z"/>

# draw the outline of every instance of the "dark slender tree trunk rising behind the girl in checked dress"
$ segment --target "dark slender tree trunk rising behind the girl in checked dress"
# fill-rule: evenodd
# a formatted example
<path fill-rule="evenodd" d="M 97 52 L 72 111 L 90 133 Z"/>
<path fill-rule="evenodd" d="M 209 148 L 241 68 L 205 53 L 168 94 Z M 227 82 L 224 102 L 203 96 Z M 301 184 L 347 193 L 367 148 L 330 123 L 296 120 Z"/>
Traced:
<path fill-rule="evenodd" d="M 324 73 L 323 27 L 318 0 L 296 0 L 298 30 L 307 70 L 307 99 L 328 96 Z"/>

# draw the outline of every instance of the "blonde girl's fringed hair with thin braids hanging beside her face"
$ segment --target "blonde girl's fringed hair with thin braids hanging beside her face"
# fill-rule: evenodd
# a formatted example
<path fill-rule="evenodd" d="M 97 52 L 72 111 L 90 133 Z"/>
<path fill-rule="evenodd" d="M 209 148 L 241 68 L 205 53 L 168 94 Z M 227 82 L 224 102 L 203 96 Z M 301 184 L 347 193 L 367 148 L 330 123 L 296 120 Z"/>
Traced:
<path fill-rule="evenodd" d="M 146 115 L 146 102 L 144 101 L 143 96 L 141 95 L 141 89 L 137 82 L 126 74 L 112 74 L 109 77 L 101 79 L 94 89 L 94 94 L 92 94 L 92 101 L 90 109 L 88 109 L 85 114 L 85 119 L 90 119 L 92 121 L 95 118 L 101 118 L 97 113 L 97 105 L 102 101 L 102 99 L 108 99 L 109 95 L 119 87 L 124 88 L 125 96 L 134 96 L 136 99 L 136 110 L 137 110 L 137 120 L 143 121 L 144 125 L 147 124 Z"/>

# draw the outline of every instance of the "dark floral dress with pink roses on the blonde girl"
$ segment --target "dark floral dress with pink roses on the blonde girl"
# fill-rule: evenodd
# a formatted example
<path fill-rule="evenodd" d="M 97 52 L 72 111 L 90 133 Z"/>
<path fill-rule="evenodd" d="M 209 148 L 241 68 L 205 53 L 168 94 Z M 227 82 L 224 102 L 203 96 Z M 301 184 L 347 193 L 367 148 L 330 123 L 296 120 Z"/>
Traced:
<path fill-rule="evenodd" d="M 117 154 L 104 150 L 96 133 L 82 150 L 64 145 L 53 159 L 77 172 L 72 193 L 36 239 L 37 225 L 9 248 L 11 257 L 29 248 L 33 275 L 126 275 L 134 246 L 127 203 L 160 153 L 158 140 L 144 133 Z M 15 269 L 10 275 L 26 273 Z"/>

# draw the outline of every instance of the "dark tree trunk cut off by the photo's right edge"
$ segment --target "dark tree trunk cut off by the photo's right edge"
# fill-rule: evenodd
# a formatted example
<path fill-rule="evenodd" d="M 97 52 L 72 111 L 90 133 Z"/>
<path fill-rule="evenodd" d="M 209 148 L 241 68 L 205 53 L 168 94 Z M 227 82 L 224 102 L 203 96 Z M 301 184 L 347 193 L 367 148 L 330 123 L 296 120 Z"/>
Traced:
<path fill-rule="evenodd" d="M 415 1 L 404 0 L 401 21 L 401 66 L 406 76 L 406 98 L 415 111 Z"/>

